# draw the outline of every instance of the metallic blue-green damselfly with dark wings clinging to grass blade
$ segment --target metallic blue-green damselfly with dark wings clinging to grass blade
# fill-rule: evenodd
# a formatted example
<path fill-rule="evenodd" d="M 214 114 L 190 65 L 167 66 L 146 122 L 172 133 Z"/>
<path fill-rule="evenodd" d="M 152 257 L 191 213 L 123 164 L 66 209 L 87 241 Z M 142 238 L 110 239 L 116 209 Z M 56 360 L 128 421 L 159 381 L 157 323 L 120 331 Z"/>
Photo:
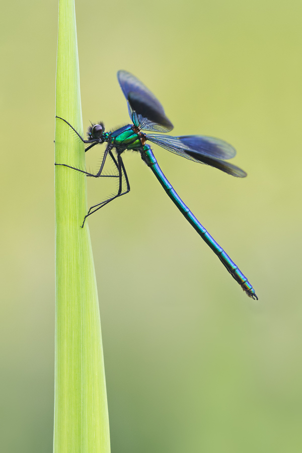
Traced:
<path fill-rule="evenodd" d="M 117 193 L 111 198 L 91 206 L 84 218 L 82 227 L 84 226 L 85 220 L 89 215 L 110 203 L 115 198 L 125 195 L 130 191 L 130 184 L 122 160 L 122 153 L 127 149 L 137 151 L 140 153 L 143 162 L 145 162 L 145 164 L 153 171 L 174 204 L 178 207 L 205 243 L 212 249 L 215 255 L 217 255 L 233 278 L 235 278 L 248 296 L 258 300 L 255 290 L 249 283 L 247 277 L 245 277 L 234 261 L 231 260 L 231 258 L 210 236 L 210 234 L 173 189 L 172 185 L 160 169 L 152 149 L 146 141 L 156 143 L 159 146 L 168 149 L 172 153 L 193 162 L 210 165 L 211 167 L 215 167 L 225 173 L 228 173 L 229 175 L 244 178 L 247 174 L 243 170 L 230 164 L 229 162 L 225 162 L 226 159 L 231 159 L 236 155 L 236 150 L 229 143 L 214 137 L 204 135 L 181 135 L 177 137 L 164 135 L 163 132 L 170 132 L 173 129 L 173 124 L 167 118 L 163 106 L 154 94 L 150 92 L 147 87 L 145 87 L 145 85 L 143 85 L 130 72 L 120 70 L 117 73 L 117 78 L 122 92 L 127 100 L 128 111 L 133 124 L 128 124 L 114 130 L 113 132 L 105 132 L 104 124 L 102 122 L 92 124 L 92 126 L 88 129 L 88 140 L 85 140 L 65 119 L 57 117 L 65 121 L 65 123 L 67 123 L 68 126 L 70 126 L 74 132 L 78 134 L 84 143 L 89 143 L 89 146 L 85 149 L 85 151 L 88 151 L 88 149 L 91 149 L 98 143 L 106 142 L 107 147 L 105 149 L 101 167 L 96 174 L 89 173 L 66 164 L 56 165 L 62 165 L 64 167 L 78 170 L 79 172 L 85 173 L 87 176 L 94 178 L 119 178 L 119 188 Z M 161 132 L 161 134 L 144 133 L 142 130 Z M 115 149 L 116 157 L 113 155 L 112 149 Z M 118 175 L 102 175 L 105 161 L 108 156 L 112 159 Z M 126 181 L 127 187 L 124 191 L 122 190 L 123 178 Z"/>

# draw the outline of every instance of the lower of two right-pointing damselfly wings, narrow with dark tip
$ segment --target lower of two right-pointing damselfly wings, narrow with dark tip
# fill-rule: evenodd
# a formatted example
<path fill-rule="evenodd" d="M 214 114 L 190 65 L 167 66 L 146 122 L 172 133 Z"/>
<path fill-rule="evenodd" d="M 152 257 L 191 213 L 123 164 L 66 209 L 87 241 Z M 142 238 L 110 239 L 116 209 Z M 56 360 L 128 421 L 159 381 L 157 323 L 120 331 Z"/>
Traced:
<path fill-rule="evenodd" d="M 236 167 L 236 165 L 230 164 L 229 162 L 224 162 L 221 159 L 209 157 L 209 155 L 201 154 L 200 151 L 191 149 L 181 140 L 181 137 L 171 137 L 170 135 L 158 135 L 152 134 L 146 135 L 146 139 L 152 141 L 159 146 L 162 146 L 171 153 L 182 156 L 190 161 L 199 162 L 201 164 L 210 165 L 215 167 L 222 172 L 228 173 L 229 175 L 236 176 L 238 178 L 245 178 L 247 176 L 246 172 L 241 170 L 241 168 Z"/>

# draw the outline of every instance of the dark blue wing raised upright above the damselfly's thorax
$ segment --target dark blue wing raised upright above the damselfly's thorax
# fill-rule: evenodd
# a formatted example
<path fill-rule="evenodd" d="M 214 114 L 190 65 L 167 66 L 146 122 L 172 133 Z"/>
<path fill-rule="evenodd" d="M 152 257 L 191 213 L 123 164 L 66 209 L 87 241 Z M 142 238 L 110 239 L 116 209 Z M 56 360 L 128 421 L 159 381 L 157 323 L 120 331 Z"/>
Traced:
<path fill-rule="evenodd" d="M 117 79 L 127 99 L 129 115 L 135 126 L 157 132 L 169 132 L 173 129 L 162 104 L 134 75 L 121 70 L 117 73 Z"/>

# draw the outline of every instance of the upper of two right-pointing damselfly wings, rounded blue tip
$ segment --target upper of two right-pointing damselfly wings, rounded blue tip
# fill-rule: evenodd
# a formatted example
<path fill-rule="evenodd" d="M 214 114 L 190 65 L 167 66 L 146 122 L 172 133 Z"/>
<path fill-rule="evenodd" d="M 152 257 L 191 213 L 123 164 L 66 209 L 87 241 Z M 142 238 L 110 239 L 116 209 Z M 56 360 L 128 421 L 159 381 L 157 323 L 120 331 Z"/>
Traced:
<path fill-rule="evenodd" d="M 177 137 L 187 147 L 203 156 L 216 159 L 232 159 L 236 156 L 236 149 L 230 143 L 206 135 L 181 135 Z"/>

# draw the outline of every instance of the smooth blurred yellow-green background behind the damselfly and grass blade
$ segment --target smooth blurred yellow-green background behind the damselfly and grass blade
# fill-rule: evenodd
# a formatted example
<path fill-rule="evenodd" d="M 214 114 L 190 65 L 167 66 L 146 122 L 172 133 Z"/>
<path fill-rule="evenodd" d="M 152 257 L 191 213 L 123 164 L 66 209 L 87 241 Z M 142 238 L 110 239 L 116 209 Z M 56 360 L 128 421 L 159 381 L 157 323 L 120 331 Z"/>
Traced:
<path fill-rule="evenodd" d="M 259 296 L 243 293 L 139 156 L 125 155 L 130 194 L 89 219 L 113 453 L 300 452 L 301 3 L 76 9 L 85 129 L 128 123 L 116 80 L 126 69 L 175 135 L 237 148 L 244 180 L 154 152 Z M 51 453 L 57 2 L 6 2 L 0 21 L 0 450 Z M 89 165 L 100 157 L 101 147 Z M 90 204 L 113 190 L 89 181 Z"/>

